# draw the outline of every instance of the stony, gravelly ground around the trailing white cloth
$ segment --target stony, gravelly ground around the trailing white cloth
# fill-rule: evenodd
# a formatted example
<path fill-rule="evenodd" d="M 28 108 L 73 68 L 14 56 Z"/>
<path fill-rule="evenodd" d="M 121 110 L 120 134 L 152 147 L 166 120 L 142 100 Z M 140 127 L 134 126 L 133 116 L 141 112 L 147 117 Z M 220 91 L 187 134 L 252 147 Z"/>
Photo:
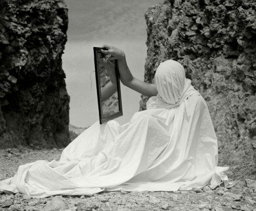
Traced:
<path fill-rule="evenodd" d="M 59 159 L 61 149 L 29 148 L 0 150 L 0 180 L 13 176 L 19 165 L 38 159 Z M 244 210 L 256 211 L 256 180 L 234 181 L 231 189 L 177 192 L 103 192 L 93 196 L 31 198 L 24 194 L 1 194 L 0 210 Z"/>

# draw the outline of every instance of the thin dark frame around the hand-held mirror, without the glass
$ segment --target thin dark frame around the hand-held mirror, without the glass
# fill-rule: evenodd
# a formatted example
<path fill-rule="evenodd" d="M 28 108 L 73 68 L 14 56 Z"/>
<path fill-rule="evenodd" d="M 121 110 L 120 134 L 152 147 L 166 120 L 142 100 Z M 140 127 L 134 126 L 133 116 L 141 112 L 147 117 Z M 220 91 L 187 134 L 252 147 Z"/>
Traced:
<path fill-rule="evenodd" d="M 116 81 L 117 81 L 117 96 L 118 96 L 118 106 L 119 106 L 119 111 L 107 116 L 103 117 L 103 109 L 102 109 L 102 100 L 101 100 L 101 87 L 100 87 L 100 76 L 99 76 L 99 58 L 98 54 L 101 53 L 101 50 L 106 50 L 104 48 L 98 48 L 94 47 L 93 52 L 94 52 L 94 65 L 95 65 L 95 76 L 96 76 L 96 87 L 97 87 L 97 99 L 98 99 L 98 108 L 99 108 L 99 123 L 103 124 L 106 123 L 110 120 L 113 120 L 115 118 L 118 118 L 119 116 L 123 115 L 123 110 L 122 110 L 122 100 L 121 100 L 121 89 L 120 89 L 120 77 L 119 77 L 119 71 L 118 71 L 118 62 L 117 60 L 112 60 L 115 61 L 115 71 L 116 71 Z"/>

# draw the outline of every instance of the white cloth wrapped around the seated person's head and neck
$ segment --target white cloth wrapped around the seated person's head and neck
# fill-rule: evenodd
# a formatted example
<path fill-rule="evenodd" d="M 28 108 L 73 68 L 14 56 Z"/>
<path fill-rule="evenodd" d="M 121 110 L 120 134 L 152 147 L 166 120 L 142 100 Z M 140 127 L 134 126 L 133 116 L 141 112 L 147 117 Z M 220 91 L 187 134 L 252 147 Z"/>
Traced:
<path fill-rule="evenodd" d="M 200 95 L 191 81 L 186 79 L 183 66 L 171 59 L 158 66 L 155 85 L 158 95 L 148 100 L 147 109 L 173 108 L 193 94 Z"/>

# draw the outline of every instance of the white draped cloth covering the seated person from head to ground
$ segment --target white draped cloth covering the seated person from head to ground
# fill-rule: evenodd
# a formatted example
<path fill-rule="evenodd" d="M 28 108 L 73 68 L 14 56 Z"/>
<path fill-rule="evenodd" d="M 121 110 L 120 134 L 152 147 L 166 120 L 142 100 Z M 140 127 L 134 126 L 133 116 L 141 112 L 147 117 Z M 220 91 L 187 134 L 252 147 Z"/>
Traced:
<path fill-rule="evenodd" d="M 229 186 L 217 167 L 218 144 L 207 105 L 185 79 L 181 64 L 157 69 L 158 96 L 119 126 L 95 123 L 62 151 L 60 161 L 20 166 L 0 190 L 32 197 L 92 195 L 101 191 L 177 191 Z"/>

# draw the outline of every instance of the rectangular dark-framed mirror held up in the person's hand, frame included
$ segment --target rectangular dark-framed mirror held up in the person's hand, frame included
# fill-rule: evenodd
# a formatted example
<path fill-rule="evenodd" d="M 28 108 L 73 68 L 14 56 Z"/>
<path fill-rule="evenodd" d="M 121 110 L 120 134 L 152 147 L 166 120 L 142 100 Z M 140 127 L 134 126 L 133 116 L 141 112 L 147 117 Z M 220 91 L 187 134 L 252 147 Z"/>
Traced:
<path fill-rule="evenodd" d="M 101 52 L 102 48 L 94 47 L 93 49 L 99 121 L 100 124 L 103 124 L 122 115 L 118 64 L 117 60 L 112 60 L 105 64 L 104 59 L 108 55 Z"/>

